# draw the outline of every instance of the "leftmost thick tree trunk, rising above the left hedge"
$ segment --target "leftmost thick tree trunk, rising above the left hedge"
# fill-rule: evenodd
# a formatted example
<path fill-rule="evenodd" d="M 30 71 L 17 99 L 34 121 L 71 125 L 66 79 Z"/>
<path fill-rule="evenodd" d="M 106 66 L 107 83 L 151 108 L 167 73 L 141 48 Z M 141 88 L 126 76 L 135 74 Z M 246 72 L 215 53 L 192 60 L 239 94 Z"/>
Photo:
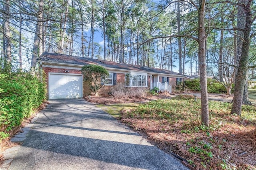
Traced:
<path fill-rule="evenodd" d="M 5 36 L 5 52 L 7 64 L 12 63 L 12 47 L 10 33 L 10 0 L 4 2 L 4 36 Z"/>

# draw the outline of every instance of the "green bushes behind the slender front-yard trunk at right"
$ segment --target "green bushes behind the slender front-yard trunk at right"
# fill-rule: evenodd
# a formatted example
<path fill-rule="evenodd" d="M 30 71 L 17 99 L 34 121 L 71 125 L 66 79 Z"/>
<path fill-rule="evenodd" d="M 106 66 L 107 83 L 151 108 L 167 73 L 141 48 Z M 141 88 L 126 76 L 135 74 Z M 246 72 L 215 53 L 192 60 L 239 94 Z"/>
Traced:
<path fill-rule="evenodd" d="M 192 79 L 185 80 L 185 88 L 192 91 L 200 91 L 200 80 Z M 207 78 L 207 90 L 208 93 L 226 93 L 226 88 L 214 79 Z"/>

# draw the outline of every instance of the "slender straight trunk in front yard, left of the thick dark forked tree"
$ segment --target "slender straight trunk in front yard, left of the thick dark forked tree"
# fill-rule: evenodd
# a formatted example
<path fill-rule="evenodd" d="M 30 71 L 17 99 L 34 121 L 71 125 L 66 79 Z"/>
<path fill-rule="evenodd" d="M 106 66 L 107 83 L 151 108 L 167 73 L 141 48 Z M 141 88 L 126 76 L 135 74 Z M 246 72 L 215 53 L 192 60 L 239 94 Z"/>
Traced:
<path fill-rule="evenodd" d="M 199 0 L 198 8 L 198 46 L 199 46 L 199 69 L 200 69 L 200 87 L 201 87 L 201 121 L 204 125 L 209 126 L 209 108 L 207 93 L 207 76 L 206 76 L 206 35 L 204 29 L 204 12 L 205 0 Z"/>

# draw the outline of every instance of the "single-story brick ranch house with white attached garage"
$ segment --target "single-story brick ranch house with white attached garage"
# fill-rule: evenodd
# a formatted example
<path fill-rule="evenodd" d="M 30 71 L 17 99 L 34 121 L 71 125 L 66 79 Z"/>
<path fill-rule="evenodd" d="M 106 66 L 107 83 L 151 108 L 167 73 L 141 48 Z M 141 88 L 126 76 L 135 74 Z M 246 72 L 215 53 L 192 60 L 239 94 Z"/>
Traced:
<path fill-rule="evenodd" d="M 160 68 L 116 63 L 84 57 L 75 57 L 44 52 L 39 58 L 40 68 L 46 75 L 48 99 L 82 98 L 91 94 L 90 84 L 83 82 L 81 68 L 96 64 L 108 70 L 109 77 L 99 94 L 108 94 L 110 87 L 123 83 L 126 87 L 155 86 L 160 91 L 172 92 L 177 82 L 183 82 L 186 76 Z"/>

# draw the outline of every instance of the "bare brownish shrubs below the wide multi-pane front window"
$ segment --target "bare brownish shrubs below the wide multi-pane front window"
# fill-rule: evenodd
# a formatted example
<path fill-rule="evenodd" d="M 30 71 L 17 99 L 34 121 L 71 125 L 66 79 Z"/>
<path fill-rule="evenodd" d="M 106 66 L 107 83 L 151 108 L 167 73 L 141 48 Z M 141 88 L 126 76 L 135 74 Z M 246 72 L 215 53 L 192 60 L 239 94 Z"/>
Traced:
<path fill-rule="evenodd" d="M 124 83 L 117 83 L 110 90 L 114 98 L 144 98 L 148 95 L 148 88 L 125 87 Z"/>

